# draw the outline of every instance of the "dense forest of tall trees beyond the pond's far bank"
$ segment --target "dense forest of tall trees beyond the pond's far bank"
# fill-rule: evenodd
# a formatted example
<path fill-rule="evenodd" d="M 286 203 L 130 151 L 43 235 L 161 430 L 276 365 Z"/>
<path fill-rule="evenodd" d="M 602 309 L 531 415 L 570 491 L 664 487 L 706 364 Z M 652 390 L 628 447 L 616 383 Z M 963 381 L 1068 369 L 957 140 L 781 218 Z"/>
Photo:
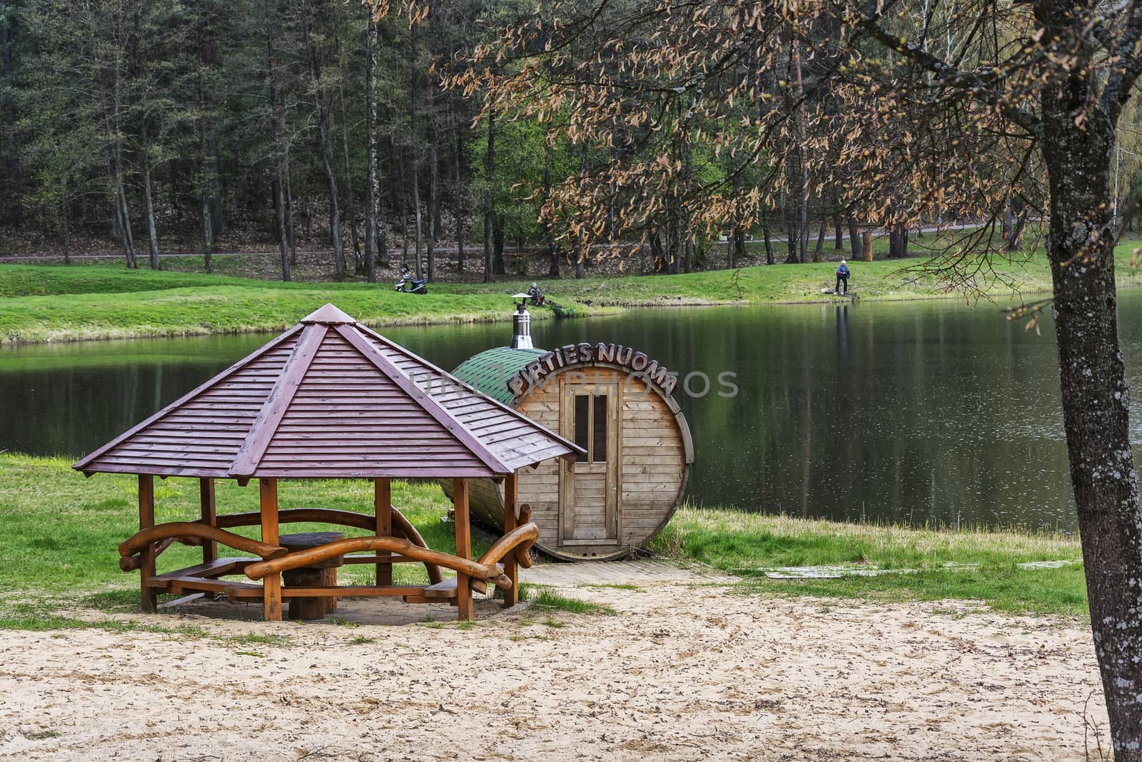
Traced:
<path fill-rule="evenodd" d="M 755 55 L 723 72 L 745 87 L 717 113 L 703 99 L 724 90 L 678 87 L 674 62 L 628 58 L 653 50 L 635 27 L 628 49 L 582 37 L 542 61 L 512 49 L 512 30 L 560 29 L 586 7 L 2 2 L 0 254 L 118 250 L 158 268 L 161 252 L 196 251 L 210 272 L 216 252 L 276 248 L 290 280 L 300 247 L 321 251 L 335 280 L 373 280 L 393 263 L 435 280 L 447 252 L 451 274 L 490 281 L 510 267 L 505 249 L 539 256 L 548 276 L 604 258 L 621 267 L 633 252 L 649 271 L 690 272 L 740 264 L 747 240 L 764 242 L 758 264 L 826 248 L 860 258 L 874 226 L 903 256 L 910 228 L 957 219 L 995 222 L 1002 247 L 1021 248 L 1042 219 L 1034 185 L 1005 189 L 999 208 L 920 208 L 883 183 L 869 198 L 852 177 L 864 169 L 835 149 L 806 155 L 806 104 L 829 113 L 843 98 L 793 38 L 780 62 Z M 581 85 L 628 64 L 646 86 L 635 105 L 613 94 L 576 104 L 555 87 L 557 70 Z M 537 71 L 547 85 L 517 87 Z M 579 106 L 608 115 L 585 125 Z M 790 114 L 793 134 L 759 129 Z M 717 128 L 739 120 L 746 129 Z M 1137 182 L 1133 135 L 1124 123 L 1124 196 Z M 749 150 L 724 150 L 733 143 Z"/>

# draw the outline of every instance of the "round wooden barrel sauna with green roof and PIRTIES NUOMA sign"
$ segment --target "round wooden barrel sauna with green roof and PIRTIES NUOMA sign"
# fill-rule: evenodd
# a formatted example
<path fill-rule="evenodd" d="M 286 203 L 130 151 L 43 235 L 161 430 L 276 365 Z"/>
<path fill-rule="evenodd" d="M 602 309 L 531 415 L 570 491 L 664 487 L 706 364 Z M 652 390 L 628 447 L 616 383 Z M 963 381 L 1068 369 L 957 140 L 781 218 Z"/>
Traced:
<path fill-rule="evenodd" d="M 534 348 L 526 310 L 513 318 L 512 346 L 481 352 L 455 375 L 587 451 L 576 463 L 520 472 L 520 503 L 539 526 L 536 546 L 565 561 L 629 555 L 674 515 L 694 460 L 671 396 L 677 378 L 618 344 Z M 500 530 L 504 484 L 472 480 L 469 489 L 473 520 Z"/>

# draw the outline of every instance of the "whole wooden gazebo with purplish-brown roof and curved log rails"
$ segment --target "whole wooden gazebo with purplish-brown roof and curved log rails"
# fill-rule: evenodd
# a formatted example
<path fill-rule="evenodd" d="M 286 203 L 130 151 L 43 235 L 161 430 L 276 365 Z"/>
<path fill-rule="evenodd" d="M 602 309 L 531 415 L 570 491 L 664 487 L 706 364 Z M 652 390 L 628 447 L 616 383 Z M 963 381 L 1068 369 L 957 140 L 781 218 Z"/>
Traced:
<path fill-rule="evenodd" d="M 119 547 L 120 567 L 140 571 L 142 607 L 159 593 L 225 593 L 258 600 L 280 620 L 282 602 L 391 595 L 408 602 L 447 600 L 472 618 L 472 591 L 489 583 L 515 603 L 518 566 L 529 566 L 538 528 L 518 502 L 516 471 L 549 458 L 574 460 L 582 450 L 540 424 L 357 323 L 327 304 L 249 356 L 91 452 L 73 467 L 138 474 L 139 531 Z M 154 523 L 154 476 L 200 481 L 201 519 Z M 278 510 L 279 479 L 369 479 L 372 515 L 330 508 Z M 216 479 L 257 479 L 260 510 L 217 511 Z M 456 554 L 434 551 L 393 507 L 392 479 L 451 479 Z M 468 480 L 504 482 L 504 536 L 471 558 Z M 322 522 L 371 531 L 368 537 L 319 538 L 312 547 L 281 539 L 279 526 Z M 227 529 L 260 526 L 252 540 Z M 328 542 L 324 542 L 328 540 Z M 202 546 L 202 563 L 159 573 L 155 559 L 172 543 Z M 219 558 L 217 545 L 254 553 Z M 424 563 L 428 585 L 393 585 L 392 564 Z M 341 563 L 376 564 L 371 586 L 338 586 Z M 332 568 L 331 568 L 332 567 Z M 443 579 L 441 567 L 453 569 Z M 301 585 L 282 573 L 309 570 Z M 249 581 L 224 577 L 244 575 Z M 316 579 L 317 583 L 312 580 Z"/>

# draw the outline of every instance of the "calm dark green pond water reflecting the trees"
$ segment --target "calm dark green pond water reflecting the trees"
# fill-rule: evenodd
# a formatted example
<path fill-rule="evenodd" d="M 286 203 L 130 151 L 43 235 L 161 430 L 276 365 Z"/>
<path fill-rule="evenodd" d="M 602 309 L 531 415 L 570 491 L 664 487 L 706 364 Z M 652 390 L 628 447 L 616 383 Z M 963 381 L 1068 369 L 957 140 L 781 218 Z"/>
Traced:
<path fill-rule="evenodd" d="M 1142 292 L 1119 307 L 1131 382 Z M 506 323 L 391 328 L 433 362 L 506 343 Z M 955 302 L 635 311 L 544 321 L 537 346 L 619 342 L 738 393 L 676 393 L 702 505 L 912 524 L 1073 527 L 1054 339 Z M 0 347 L 0 450 L 80 456 L 266 336 Z M 691 388 L 700 390 L 697 377 Z M 679 385 L 681 387 L 681 385 Z M 1139 395 L 1136 395 L 1139 396 Z M 1134 438 L 1142 441 L 1135 403 Z"/>

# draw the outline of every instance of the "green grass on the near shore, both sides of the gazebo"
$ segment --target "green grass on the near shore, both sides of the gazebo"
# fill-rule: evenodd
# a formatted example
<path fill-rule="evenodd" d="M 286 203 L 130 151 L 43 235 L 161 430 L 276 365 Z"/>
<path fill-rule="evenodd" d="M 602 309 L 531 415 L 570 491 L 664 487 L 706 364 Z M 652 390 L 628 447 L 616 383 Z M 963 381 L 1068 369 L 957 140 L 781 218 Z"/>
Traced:
<path fill-rule="evenodd" d="M 432 547 L 451 552 L 452 528 L 440 521 L 448 510 L 435 484 L 394 484 L 394 504 L 420 529 Z M 282 507 L 321 505 L 367 512 L 368 482 L 312 481 L 281 486 Z M 170 479 L 155 483 L 156 520 L 193 520 L 198 483 Z M 256 511 L 257 487 L 218 482 L 222 513 Z M 116 546 L 138 527 L 136 480 L 99 474 L 85 479 L 63 458 L 0 454 L 0 627 L 61 626 L 74 607 L 134 609 L 135 573 L 119 570 Z M 320 524 L 290 524 L 292 531 Z M 344 530 L 344 528 L 333 528 Z M 256 529 L 238 530 L 256 536 Z M 354 534 L 347 530 L 347 534 Z M 363 532 L 361 532 L 363 534 Z M 474 538 L 474 552 L 486 537 Z M 1030 613 L 1081 615 L 1086 596 L 1081 568 L 1020 569 L 1026 561 L 1078 559 L 1078 543 L 1053 536 L 973 531 L 926 531 L 837 524 L 735 511 L 684 508 L 654 540 L 658 552 L 699 561 L 738 575 L 742 593 L 837 596 L 876 600 L 982 601 L 995 609 Z M 176 545 L 161 569 L 195 563 L 199 548 Z M 949 568 L 944 564 L 960 564 Z M 919 569 L 868 578 L 770 580 L 756 570 L 810 564 L 876 564 Z M 978 564 L 966 568 L 962 564 Z M 424 570 L 399 564 L 396 578 L 423 583 Z M 370 568 L 347 566 L 341 579 L 364 584 Z M 637 594 L 637 593 L 632 593 Z"/>

